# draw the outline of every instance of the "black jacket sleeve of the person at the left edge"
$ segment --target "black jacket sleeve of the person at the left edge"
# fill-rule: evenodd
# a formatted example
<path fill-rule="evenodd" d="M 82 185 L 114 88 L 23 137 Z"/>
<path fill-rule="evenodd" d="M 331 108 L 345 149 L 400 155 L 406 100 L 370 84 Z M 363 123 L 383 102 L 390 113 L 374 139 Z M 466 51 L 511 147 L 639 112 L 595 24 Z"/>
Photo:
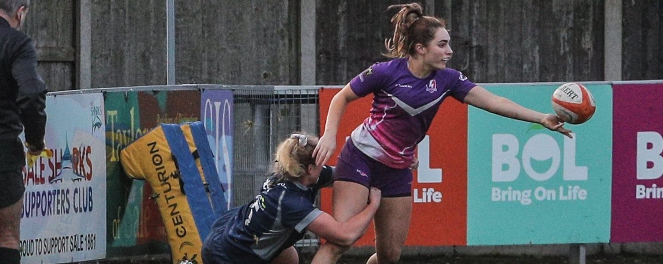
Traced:
<path fill-rule="evenodd" d="M 36 71 L 36 52 L 27 38 L 13 58 L 11 73 L 19 87 L 17 107 L 25 127 L 25 142 L 39 148 L 44 144 L 46 127 L 46 85 Z"/>

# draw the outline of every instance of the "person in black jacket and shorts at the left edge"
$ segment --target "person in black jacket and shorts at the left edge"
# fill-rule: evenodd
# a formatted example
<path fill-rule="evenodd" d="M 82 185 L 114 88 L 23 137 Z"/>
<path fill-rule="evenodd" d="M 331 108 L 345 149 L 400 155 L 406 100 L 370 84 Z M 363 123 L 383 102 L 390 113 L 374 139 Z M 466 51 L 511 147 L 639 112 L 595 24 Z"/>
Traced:
<path fill-rule="evenodd" d="M 25 127 L 30 154 L 44 150 L 46 85 L 39 77 L 32 40 L 19 31 L 29 0 L 0 0 L 0 263 L 18 264 L 23 208 Z"/>

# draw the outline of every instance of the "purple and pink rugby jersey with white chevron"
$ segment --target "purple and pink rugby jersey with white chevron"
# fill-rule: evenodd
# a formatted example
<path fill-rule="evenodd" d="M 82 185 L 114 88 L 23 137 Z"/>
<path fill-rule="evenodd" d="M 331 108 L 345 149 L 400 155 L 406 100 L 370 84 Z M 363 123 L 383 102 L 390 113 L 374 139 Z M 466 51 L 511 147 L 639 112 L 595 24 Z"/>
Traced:
<path fill-rule="evenodd" d="M 463 101 L 476 85 L 460 71 L 446 68 L 418 78 L 407 58 L 373 64 L 350 81 L 355 95 L 373 93 L 371 115 L 351 135 L 355 146 L 369 157 L 396 169 L 412 163 L 416 144 L 426 136 L 442 101 Z"/>

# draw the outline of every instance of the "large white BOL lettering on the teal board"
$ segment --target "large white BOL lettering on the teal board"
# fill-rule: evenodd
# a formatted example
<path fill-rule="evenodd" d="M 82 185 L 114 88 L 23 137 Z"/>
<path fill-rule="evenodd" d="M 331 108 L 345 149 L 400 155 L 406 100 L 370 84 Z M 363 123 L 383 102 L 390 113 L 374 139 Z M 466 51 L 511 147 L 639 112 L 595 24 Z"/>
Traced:
<path fill-rule="evenodd" d="M 520 159 L 518 159 L 518 154 L 520 154 L 520 142 L 516 136 L 493 134 L 494 182 L 515 181 L 520 175 L 521 167 L 535 181 L 546 181 L 558 172 L 560 163 L 562 163 L 564 181 L 587 180 L 587 166 L 575 165 L 575 136 L 574 138 L 564 137 L 564 145 L 560 150 L 560 145 L 552 136 L 536 134 L 522 146 Z M 550 160 L 550 167 L 546 171 L 536 171 L 532 160 L 535 162 Z"/>

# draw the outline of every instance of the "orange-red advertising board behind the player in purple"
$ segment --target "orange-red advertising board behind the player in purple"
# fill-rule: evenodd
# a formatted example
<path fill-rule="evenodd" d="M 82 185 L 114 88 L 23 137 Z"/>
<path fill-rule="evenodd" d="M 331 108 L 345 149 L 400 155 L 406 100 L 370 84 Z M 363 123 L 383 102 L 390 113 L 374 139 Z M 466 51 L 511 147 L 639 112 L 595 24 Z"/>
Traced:
<path fill-rule="evenodd" d="M 320 131 L 324 131 L 331 99 L 337 88 L 320 90 Z M 369 116 L 373 95 L 353 101 L 345 109 L 336 135 L 335 165 L 345 138 Z M 406 245 L 466 245 L 467 234 L 467 105 L 455 99 L 442 103 L 416 151 L 420 166 L 412 181 L 412 222 Z M 322 190 L 321 208 L 331 213 L 332 190 Z M 373 245 L 373 226 L 355 246 Z"/>

